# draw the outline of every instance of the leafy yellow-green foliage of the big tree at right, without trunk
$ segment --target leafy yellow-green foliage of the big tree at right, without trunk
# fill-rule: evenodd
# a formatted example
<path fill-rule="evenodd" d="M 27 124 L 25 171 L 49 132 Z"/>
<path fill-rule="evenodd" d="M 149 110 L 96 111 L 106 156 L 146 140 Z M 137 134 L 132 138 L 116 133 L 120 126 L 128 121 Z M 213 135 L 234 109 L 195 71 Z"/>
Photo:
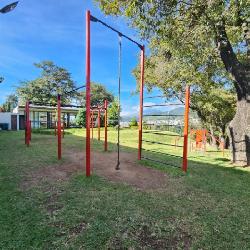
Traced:
<path fill-rule="evenodd" d="M 235 114 L 237 84 L 225 66 L 227 59 L 222 60 L 220 49 L 225 45 L 219 41 L 225 28 L 225 44 L 230 43 L 238 60 L 247 64 L 243 29 L 249 16 L 247 0 L 97 2 L 105 14 L 128 18 L 149 41 L 145 69 L 149 91 L 158 87 L 166 98 L 183 101 L 185 86 L 192 85 L 191 107 L 202 121 L 220 130 L 229 123 Z M 139 79 L 139 66 L 134 73 Z"/>

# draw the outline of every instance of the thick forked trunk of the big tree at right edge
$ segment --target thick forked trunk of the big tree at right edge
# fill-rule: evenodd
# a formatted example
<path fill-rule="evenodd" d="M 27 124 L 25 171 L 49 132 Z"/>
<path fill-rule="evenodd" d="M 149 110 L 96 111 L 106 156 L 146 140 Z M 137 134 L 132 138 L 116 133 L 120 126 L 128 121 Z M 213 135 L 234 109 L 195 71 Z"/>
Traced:
<path fill-rule="evenodd" d="M 248 24 L 247 24 L 248 25 Z M 249 27 L 245 26 L 246 43 L 249 45 Z M 229 124 L 233 163 L 250 166 L 250 65 L 243 65 L 233 51 L 225 25 L 217 27 L 216 43 L 226 70 L 235 80 L 237 111 Z M 247 49 L 249 57 L 249 47 Z"/>

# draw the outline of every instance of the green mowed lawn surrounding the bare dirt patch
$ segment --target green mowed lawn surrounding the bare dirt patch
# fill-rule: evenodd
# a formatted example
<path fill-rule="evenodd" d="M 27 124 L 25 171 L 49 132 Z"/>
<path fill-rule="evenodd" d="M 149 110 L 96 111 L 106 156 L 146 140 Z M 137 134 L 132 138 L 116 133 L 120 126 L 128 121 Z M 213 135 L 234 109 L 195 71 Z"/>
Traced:
<path fill-rule="evenodd" d="M 109 131 L 110 151 L 116 133 Z M 63 151 L 84 153 L 84 135 L 71 130 Z M 27 176 L 58 164 L 57 148 L 54 135 L 33 134 L 29 148 L 23 137 L 0 131 L 0 249 L 250 249 L 250 169 L 231 166 L 228 152 L 191 153 L 187 174 L 142 161 L 168 175 L 160 190 L 86 178 L 84 162 L 82 174 L 27 187 Z M 144 138 L 173 143 L 175 137 Z M 137 154 L 137 130 L 122 130 L 121 141 L 122 151 Z M 92 142 L 93 150 L 103 150 L 103 141 Z M 144 148 L 160 152 L 147 157 L 181 164 L 171 156 L 180 156 L 181 148 Z"/>

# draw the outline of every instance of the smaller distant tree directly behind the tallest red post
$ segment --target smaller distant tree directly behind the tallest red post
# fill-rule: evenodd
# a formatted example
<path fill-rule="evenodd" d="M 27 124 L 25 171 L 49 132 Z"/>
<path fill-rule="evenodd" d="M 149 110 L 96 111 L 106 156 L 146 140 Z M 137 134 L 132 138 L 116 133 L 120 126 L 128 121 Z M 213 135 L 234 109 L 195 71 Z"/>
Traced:
<path fill-rule="evenodd" d="M 110 93 L 107 88 L 100 83 L 91 83 L 91 106 L 102 106 L 104 101 L 107 100 L 108 103 L 114 101 L 114 95 Z M 85 105 L 86 92 L 81 92 L 76 100 L 80 105 Z"/>

